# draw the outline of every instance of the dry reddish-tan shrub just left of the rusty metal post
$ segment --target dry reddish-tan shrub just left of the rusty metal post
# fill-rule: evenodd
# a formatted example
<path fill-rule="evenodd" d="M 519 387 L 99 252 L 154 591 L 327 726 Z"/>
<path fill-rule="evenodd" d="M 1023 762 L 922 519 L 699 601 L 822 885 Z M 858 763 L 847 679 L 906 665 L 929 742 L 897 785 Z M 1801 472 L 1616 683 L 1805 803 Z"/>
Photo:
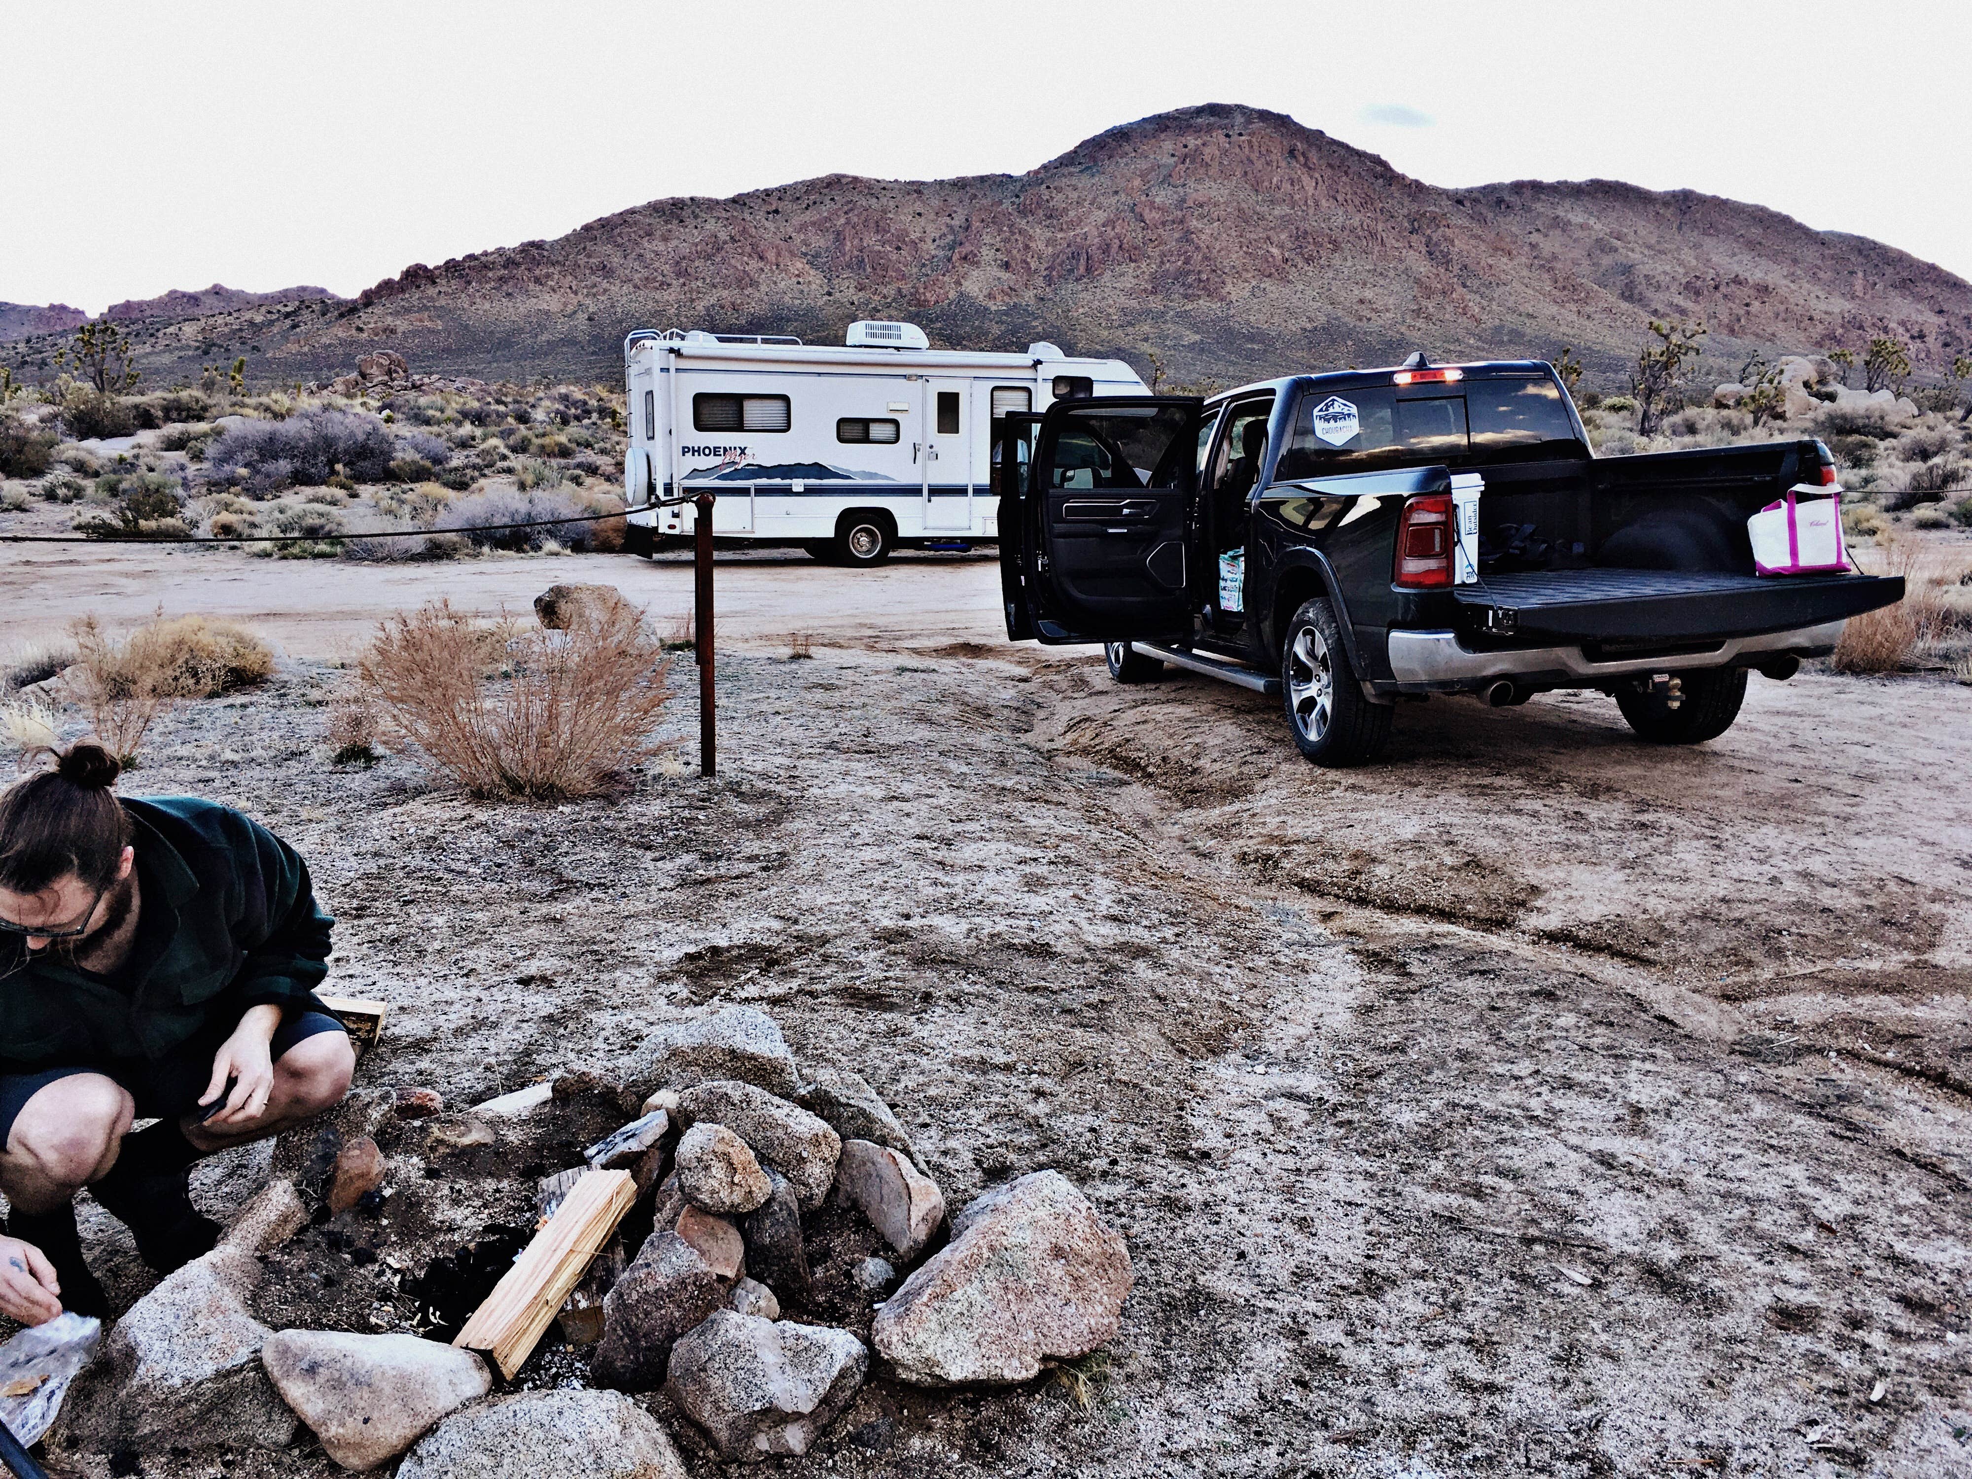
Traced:
<path fill-rule="evenodd" d="M 487 674 L 489 655 L 501 661 Z M 406 740 L 477 797 L 590 797 L 655 755 L 670 690 L 633 605 L 584 605 L 562 631 L 483 625 L 450 601 L 383 625 L 359 665 Z"/>

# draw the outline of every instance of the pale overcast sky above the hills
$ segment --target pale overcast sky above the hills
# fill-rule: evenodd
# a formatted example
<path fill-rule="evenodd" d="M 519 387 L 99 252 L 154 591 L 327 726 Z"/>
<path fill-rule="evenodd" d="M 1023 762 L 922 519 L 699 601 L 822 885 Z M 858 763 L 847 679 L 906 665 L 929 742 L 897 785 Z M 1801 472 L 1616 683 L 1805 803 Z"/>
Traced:
<path fill-rule="evenodd" d="M 1436 185 L 1627 179 L 1972 278 L 1972 4 L 0 0 L 0 300 L 355 294 L 661 195 L 1023 172 L 1191 103 Z"/>

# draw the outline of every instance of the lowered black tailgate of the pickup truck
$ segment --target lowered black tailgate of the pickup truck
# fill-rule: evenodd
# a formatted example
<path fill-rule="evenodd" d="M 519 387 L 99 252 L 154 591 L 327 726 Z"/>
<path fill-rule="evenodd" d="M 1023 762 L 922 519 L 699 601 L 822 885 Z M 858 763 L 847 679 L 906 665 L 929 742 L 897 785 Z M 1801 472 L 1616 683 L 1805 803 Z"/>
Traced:
<path fill-rule="evenodd" d="M 1694 643 L 1816 627 L 1903 598 L 1899 576 L 1528 570 L 1455 592 L 1469 629 L 1550 643 Z"/>

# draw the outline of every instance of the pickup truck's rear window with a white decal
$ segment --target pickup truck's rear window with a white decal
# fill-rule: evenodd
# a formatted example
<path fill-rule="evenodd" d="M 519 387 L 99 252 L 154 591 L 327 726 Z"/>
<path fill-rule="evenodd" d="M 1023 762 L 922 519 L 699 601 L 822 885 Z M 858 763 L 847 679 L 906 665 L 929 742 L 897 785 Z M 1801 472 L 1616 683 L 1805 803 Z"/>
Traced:
<path fill-rule="evenodd" d="M 1554 381 L 1465 381 L 1459 394 L 1449 396 L 1357 387 L 1302 396 L 1274 477 L 1294 481 L 1432 461 L 1560 456 L 1580 458 L 1585 450 Z"/>

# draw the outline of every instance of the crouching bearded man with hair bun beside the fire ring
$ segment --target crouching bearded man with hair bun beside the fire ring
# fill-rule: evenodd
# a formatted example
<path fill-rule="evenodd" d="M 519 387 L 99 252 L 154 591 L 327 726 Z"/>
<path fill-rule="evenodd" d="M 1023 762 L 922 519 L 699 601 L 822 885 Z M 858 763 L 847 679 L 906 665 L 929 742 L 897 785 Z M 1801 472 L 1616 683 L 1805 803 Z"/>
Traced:
<path fill-rule="evenodd" d="M 355 1053 L 286 842 L 211 801 L 122 801 L 95 743 L 0 793 L 0 1311 L 105 1315 L 81 1187 L 160 1272 L 219 1238 L 191 1163 L 329 1108 Z M 130 1134 L 132 1120 L 158 1122 Z"/>

